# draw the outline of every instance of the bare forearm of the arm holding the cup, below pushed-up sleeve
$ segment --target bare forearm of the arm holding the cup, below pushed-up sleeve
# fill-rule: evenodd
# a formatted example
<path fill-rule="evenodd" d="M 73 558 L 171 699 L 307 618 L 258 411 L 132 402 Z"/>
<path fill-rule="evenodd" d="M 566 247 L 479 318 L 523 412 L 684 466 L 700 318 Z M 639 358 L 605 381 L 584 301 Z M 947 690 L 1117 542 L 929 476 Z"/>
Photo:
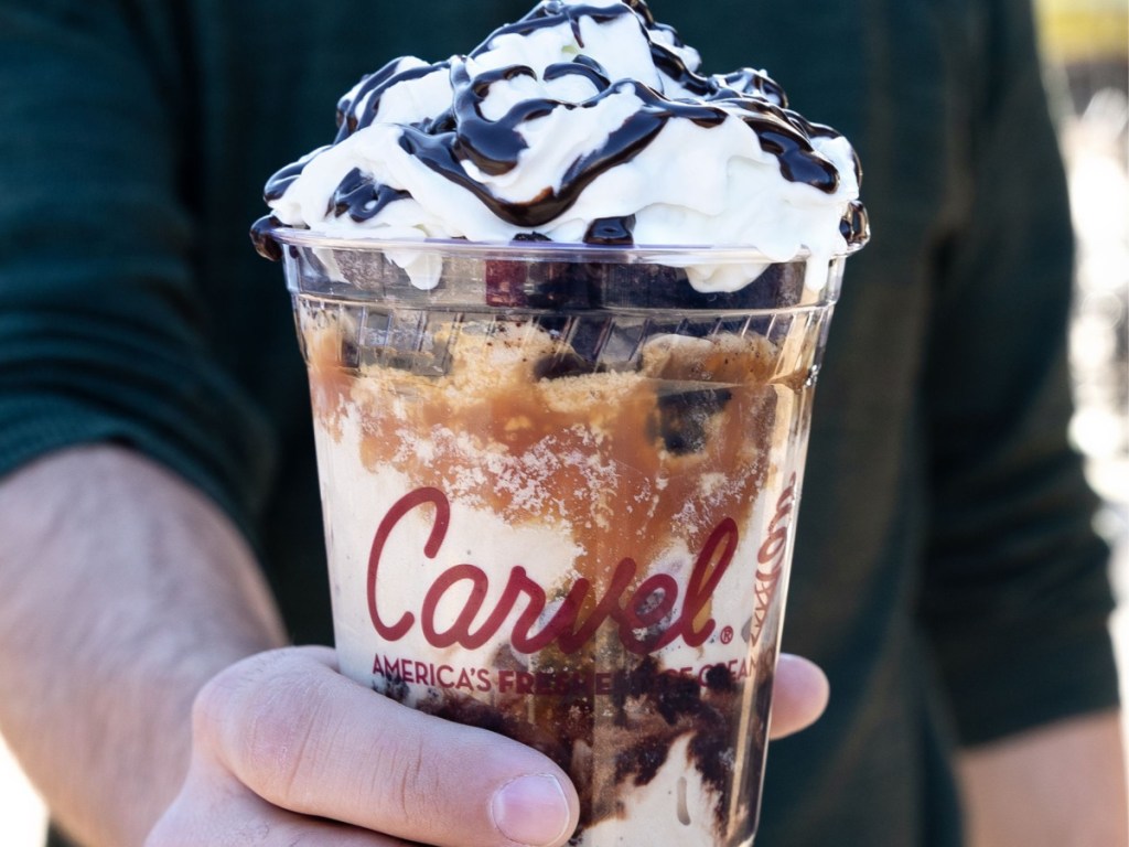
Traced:
<path fill-rule="evenodd" d="M 209 501 L 114 447 L 8 479 L 0 539 L 0 727 L 79 840 L 140 844 L 196 691 L 285 643 L 257 566 Z"/>

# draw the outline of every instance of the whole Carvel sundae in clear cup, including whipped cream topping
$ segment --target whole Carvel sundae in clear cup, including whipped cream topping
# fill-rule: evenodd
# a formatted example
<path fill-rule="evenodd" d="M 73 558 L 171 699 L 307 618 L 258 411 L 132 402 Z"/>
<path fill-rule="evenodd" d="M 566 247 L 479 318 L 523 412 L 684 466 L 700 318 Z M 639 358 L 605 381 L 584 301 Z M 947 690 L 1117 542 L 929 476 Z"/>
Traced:
<path fill-rule="evenodd" d="M 751 844 L 867 236 L 849 143 L 642 2 L 396 60 L 339 126 L 254 235 L 295 291 L 342 671 L 550 756 L 572 844 Z"/>

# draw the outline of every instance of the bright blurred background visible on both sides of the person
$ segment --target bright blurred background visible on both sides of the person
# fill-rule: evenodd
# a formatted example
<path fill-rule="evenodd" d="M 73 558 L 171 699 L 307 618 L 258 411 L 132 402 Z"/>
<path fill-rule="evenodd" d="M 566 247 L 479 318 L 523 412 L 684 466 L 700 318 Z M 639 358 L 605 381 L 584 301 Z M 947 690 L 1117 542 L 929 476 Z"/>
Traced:
<path fill-rule="evenodd" d="M 1129 603 L 1129 0 L 1035 0 L 1078 232 L 1074 438 Z M 1114 621 L 1129 666 L 1129 613 Z M 1129 678 L 1129 673 L 1126 674 Z M 1129 701 L 1129 681 L 1126 684 Z M 0 847 L 40 847 L 43 804 L 0 740 Z"/>

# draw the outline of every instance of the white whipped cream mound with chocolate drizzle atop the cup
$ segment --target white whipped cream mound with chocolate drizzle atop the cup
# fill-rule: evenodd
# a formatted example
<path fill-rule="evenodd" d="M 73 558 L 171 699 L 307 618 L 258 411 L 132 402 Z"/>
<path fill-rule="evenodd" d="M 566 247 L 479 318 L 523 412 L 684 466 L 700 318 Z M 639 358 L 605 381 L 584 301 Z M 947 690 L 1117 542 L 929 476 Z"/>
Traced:
<path fill-rule="evenodd" d="M 390 62 L 332 145 L 266 185 L 279 226 L 390 239 L 742 245 L 773 261 L 867 237 L 860 169 L 761 71 L 700 71 L 641 0 L 546 0 L 466 55 Z M 410 269 L 421 287 L 435 273 Z M 749 274 L 690 273 L 701 290 Z"/>

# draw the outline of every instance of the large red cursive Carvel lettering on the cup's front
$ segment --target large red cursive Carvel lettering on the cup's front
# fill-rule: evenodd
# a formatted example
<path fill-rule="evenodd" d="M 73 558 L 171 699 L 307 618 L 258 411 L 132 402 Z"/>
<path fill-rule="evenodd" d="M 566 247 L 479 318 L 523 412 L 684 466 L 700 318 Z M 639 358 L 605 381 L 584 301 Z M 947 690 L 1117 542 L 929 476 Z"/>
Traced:
<path fill-rule="evenodd" d="M 791 510 L 790 504 L 789 499 L 787 512 Z M 418 612 L 400 611 L 400 615 L 395 617 L 393 610 L 382 605 L 377 577 L 385 561 L 385 548 L 392 532 L 412 509 L 425 505 L 434 507 L 435 516 L 422 552 L 427 558 L 435 559 L 443 548 L 450 523 L 450 503 L 437 488 L 419 488 L 404 495 L 388 509 L 373 539 L 368 560 L 368 612 L 376 631 L 387 641 L 403 638 L 418 619 L 423 637 L 431 646 L 444 648 L 460 645 L 466 649 L 475 649 L 498 634 L 501 625 L 522 602 L 524 609 L 510 632 L 510 643 L 520 653 L 534 653 L 554 643 L 562 653 L 576 653 L 607 620 L 618 625 L 624 648 L 638 655 L 660 649 L 677 638 L 682 638 L 691 647 L 698 647 L 706 643 L 717 626 L 712 618 L 701 621 L 699 618 L 703 617 L 702 613 L 725 577 L 737 549 L 737 524 L 729 517 L 714 529 L 702 545 L 686 583 L 682 609 L 675 620 L 662 630 L 656 629 L 657 626 L 677 605 L 679 584 L 667 574 L 655 574 L 631 590 L 639 566 L 630 557 L 621 559 L 616 565 L 606 592 L 603 596 L 594 596 L 590 611 L 584 612 L 583 609 L 594 587 L 589 579 L 581 577 L 572 584 L 552 618 L 540 629 L 536 629 L 537 622 L 548 604 L 545 590 L 520 565 L 510 568 L 501 596 L 478 628 L 474 628 L 474 620 L 482 612 L 490 588 L 490 576 L 482 568 L 467 562 L 454 565 L 439 574 L 425 594 Z M 773 524 L 781 525 L 779 513 L 777 518 L 780 519 L 774 519 Z M 765 541 L 762 552 L 769 549 L 770 543 L 772 536 Z M 771 552 L 767 555 L 777 558 L 777 547 L 770 549 Z M 779 557 L 782 558 L 782 545 L 779 550 Z M 436 610 L 444 595 L 460 583 L 467 583 L 470 587 L 465 606 L 454 621 L 438 621 Z M 760 599 L 760 590 L 758 595 Z M 446 628 L 440 629 L 444 625 Z"/>

